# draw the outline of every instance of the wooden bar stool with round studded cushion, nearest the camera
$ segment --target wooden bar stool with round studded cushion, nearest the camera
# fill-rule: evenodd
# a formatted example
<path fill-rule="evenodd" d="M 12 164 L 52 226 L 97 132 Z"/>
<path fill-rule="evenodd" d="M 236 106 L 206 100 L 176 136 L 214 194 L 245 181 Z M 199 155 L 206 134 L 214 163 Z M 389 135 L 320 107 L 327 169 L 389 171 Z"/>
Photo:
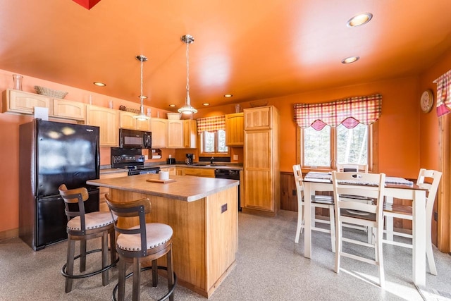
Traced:
<path fill-rule="evenodd" d="M 113 290 L 113 300 L 125 299 L 125 279 L 133 276 L 132 299 L 140 300 L 141 271 L 152 269 L 152 286 L 158 285 L 158 269 L 164 269 L 168 275 L 168 293 L 159 300 L 174 300 L 175 284 L 177 276 L 173 272 L 172 264 L 172 235 L 171 226 L 164 223 L 146 223 L 146 214 L 149 214 L 152 205 L 149 199 L 138 199 L 130 202 L 113 202 L 109 194 L 105 195 L 106 204 L 111 211 L 111 216 L 123 218 L 138 216 L 140 224 L 132 228 L 123 228 L 116 221 L 114 228 L 118 233 L 116 250 L 119 254 L 119 279 L 118 285 Z M 166 254 L 167 267 L 158 266 L 156 260 Z M 142 260 L 151 260 L 152 266 L 141 268 Z M 132 263 L 132 273 L 125 276 L 126 263 Z"/>

